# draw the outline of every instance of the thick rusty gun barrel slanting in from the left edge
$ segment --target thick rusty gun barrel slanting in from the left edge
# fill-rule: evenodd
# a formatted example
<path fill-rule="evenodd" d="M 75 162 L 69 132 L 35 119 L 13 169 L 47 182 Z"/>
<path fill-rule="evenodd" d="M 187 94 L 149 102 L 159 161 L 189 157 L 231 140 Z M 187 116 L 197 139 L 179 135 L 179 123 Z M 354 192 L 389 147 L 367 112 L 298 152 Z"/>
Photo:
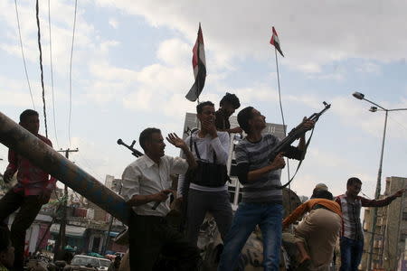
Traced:
<path fill-rule="evenodd" d="M 89 173 L 58 154 L 51 146 L 43 143 L 0 112 L 0 143 L 23 155 L 35 166 L 50 173 L 73 191 L 106 210 L 123 223 L 128 223 L 129 207 L 126 201 L 110 191 Z"/>

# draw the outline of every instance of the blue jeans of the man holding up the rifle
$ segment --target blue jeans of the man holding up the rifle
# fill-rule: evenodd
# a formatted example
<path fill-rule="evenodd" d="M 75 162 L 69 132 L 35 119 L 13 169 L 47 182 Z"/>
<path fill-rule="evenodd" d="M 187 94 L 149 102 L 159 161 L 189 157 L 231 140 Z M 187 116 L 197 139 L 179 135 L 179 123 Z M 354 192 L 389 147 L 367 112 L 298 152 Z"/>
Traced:
<path fill-rule="evenodd" d="M 218 271 L 233 270 L 241 248 L 256 225 L 260 226 L 263 237 L 264 270 L 279 270 L 282 211 L 281 204 L 241 202 L 224 240 Z"/>

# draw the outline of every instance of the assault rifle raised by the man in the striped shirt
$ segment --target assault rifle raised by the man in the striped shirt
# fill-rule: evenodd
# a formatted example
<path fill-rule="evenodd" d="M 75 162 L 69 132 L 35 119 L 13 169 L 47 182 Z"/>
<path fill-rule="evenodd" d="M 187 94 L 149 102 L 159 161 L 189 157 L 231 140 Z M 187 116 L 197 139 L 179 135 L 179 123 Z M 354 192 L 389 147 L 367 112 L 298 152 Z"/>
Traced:
<path fill-rule="evenodd" d="M 329 107 L 331 107 L 330 104 L 328 104 L 327 102 L 323 102 L 325 108 L 322 109 L 320 112 L 318 113 L 314 113 L 312 114 L 310 117 L 307 118 L 307 120 L 313 120 L 317 123 L 317 120 L 319 117 L 321 117 L 322 114 L 325 113 L 325 111 L 327 111 L 327 109 L 329 109 Z M 304 122 L 301 122 L 298 126 L 294 127 L 290 132 L 289 135 L 287 135 L 283 140 L 281 140 L 279 142 L 279 145 L 276 145 L 270 153 L 270 161 L 272 162 L 274 160 L 274 158 L 276 158 L 277 154 L 284 152 L 284 150 L 289 147 L 289 145 L 291 145 L 294 141 L 296 141 L 299 137 L 301 137 L 302 135 L 304 135 L 304 133 L 307 132 L 306 128 L 304 127 Z M 308 141 L 309 143 L 309 141 Z"/>

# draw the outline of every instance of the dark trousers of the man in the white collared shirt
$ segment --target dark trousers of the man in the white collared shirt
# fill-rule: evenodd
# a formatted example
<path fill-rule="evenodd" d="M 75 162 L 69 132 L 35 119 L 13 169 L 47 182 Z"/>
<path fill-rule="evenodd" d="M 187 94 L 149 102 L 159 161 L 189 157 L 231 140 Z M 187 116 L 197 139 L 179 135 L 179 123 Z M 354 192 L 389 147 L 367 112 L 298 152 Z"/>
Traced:
<path fill-rule="evenodd" d="M 170 227 L 166 218 L 139 216 L 131 211 L 128 230 L 131 271 L 162 269 L 155 267 L 160 256 L 174 259 L 176 270 L 192 271 L 201 262 L 198 248 Z"/>

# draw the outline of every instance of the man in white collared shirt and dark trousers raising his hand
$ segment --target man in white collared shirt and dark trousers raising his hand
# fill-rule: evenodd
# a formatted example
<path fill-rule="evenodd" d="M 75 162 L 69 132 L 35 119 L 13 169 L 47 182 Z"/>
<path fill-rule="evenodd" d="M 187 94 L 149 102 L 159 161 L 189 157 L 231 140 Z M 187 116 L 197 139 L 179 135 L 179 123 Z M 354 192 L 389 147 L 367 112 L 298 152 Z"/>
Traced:
<path fill-rule="evenodd" d="M 186 161 L 165 155 L 161 131 L 147 128 L 139 137 L 145 155 L 129 164 L 122 176 L 121 193 L 133 209 L 128 225 L 131 270 L 153 270 L 160 254 L 178 258 L 177 270 L 194 270 L 200 262 L 198 249 L 166 221 L 168 194 L 172 192 L 170 174 L 194 168 L 194 156 L 177 135 L 169 134 L 166 140 L 184 151 Z M 161 203 L 154 208 L 156 202 Z"/>

